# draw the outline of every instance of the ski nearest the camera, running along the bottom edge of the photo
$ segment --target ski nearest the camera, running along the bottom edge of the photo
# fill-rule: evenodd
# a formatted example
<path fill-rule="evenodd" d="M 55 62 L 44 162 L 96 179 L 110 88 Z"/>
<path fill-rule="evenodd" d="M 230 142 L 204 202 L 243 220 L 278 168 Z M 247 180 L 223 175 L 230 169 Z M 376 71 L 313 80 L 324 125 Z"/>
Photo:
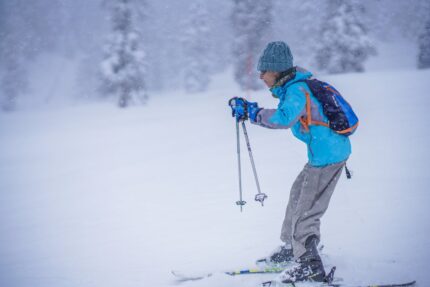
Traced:
<path fill-rule="evenodd" d="M 349 285 L 346 283 L 324 283 L 324 282 L 296 282 L 296 283 L 282 283 L 280 281 L 272 280 L 263 282 L 261 287 L 409 287 L 414 286 L 416 281 L 405 283 L 391 283 L 391 284 L 363 284 L 363 285 Z"/>

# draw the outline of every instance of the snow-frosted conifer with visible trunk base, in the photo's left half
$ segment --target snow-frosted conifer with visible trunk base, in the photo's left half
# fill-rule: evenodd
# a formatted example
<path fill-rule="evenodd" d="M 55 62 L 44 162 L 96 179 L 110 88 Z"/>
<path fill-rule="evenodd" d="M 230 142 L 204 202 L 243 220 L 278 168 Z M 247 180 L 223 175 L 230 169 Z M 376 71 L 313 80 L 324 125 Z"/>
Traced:
<path fill-rule="evenodd" d="M 107 0 L 112 33 L 101 64 L 102 90 L 118 97 L 118 105 L 145 103 L 145 53 L 140 48 L 141 35 L 136 29 L 135 0 Z"/>

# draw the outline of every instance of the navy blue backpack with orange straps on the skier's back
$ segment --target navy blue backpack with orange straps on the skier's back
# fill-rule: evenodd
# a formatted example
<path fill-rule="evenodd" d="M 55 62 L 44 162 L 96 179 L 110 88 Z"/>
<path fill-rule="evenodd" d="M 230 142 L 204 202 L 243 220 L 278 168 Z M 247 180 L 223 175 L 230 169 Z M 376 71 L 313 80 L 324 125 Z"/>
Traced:
<path fill-rule="evenodd" d="M 311 116 L 311 99 L 306 92 L 306 117 L 300 118 L 300 122 L 306 130 L 309 125 L 322 125 L 329 127 L 338 134 L 344 136 L 352 135 L 358 127 L 359 120 L 351 108 L 351 105 L 341 96 L 341 94 L 330 84 L 317 79 L 304 80 L 314 97 L 321 103 L 323 113 L 328 119 L 328 124 L 313 121 Z"/>

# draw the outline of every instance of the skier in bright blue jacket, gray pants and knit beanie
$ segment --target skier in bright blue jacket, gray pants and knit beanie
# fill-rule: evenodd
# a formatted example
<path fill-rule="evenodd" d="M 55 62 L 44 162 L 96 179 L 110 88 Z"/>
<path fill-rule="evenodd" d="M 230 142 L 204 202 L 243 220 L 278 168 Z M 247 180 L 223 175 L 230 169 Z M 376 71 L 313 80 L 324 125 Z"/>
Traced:
<path fill-rule="evenodd" d="M 273 97 L 279 99 L 278 108 L 264 109 L 241 99 L 232 106 L 233 116 L 239 120 L 250 119 L 251 123 L 265 128 L 290 128 L 296 138 L 306 143 L 308 152 L 308 163 L 290 191 L 281 229 L 284 245 L 263 261 L 278 266 L 292 263 L 281 274 L 284 283 L 322 282 L 326 273 L 317 249 L 320 219 L 351 154 L 350 140 L 327 124 L 314 125 L 306 120 L 311 116 L 315 122 L 328 122 L 321 103 L 304 82 L 312 74 L 293 66 L 293 56 L 286 43 L 269 43 L 257 69 Z"/>

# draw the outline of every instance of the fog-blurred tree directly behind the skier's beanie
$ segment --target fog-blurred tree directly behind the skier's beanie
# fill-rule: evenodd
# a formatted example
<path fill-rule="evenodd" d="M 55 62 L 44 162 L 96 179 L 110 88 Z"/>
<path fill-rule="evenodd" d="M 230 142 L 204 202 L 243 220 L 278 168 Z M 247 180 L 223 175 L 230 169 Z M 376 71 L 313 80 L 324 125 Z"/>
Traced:
<path fill-rule="evenodd" d="M 262 87 L 256 67 L 258 57 L 272 33 L 271 12 L 271 0 L 234 0 L 234 77 L 243 90 Z"/>

